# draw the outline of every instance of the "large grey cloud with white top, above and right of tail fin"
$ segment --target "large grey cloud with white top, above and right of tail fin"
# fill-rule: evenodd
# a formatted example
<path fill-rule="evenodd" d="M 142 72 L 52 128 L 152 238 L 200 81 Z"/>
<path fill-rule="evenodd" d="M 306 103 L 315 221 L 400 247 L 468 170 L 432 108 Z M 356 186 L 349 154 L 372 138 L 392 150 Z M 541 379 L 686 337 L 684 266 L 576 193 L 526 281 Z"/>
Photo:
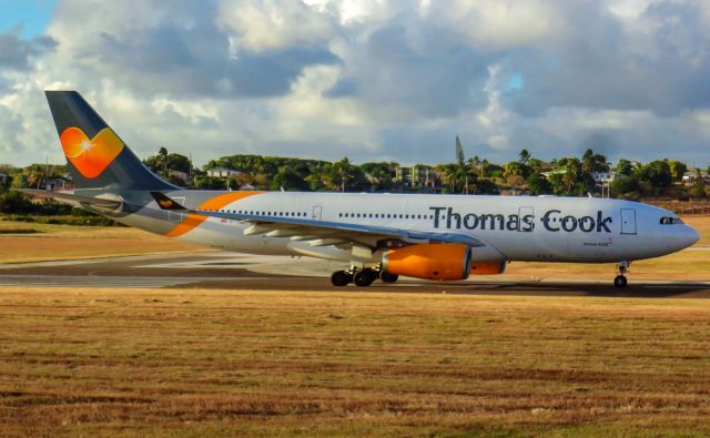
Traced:
<path fill-rule="evenodd" d="M 163 2 L 144 1 L 136 10 L 132 8 L 121 2 L 100 3 L 87 16 L 80 6 L 62 3 L 49 31 L 71 42 L 58 58 L 70 60 L 70 68 L 111 78 L 146 96 L 224 99 L 281 95 L 305 67 L 338 61 L 326 45 L 303 41 L 260 50 L 235 49 L 235 37 L 223 24 L 227 17 L 222 17 L 214 2 L 180 3 L 169 9 Z M 77 14 L 87 18 L 81 27 L 75 26 Z M 252 26 L 255 32 L 277 33 L 261 22 Z"/>

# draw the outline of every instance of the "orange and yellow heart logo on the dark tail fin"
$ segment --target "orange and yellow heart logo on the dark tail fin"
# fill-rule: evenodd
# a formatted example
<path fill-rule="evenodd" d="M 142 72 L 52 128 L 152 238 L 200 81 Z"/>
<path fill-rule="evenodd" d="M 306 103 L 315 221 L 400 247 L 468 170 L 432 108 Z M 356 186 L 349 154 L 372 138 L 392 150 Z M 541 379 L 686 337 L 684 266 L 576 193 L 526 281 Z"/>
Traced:
<path fill-rule="evenodd" d="M 67 128 L 59 136 L 67 160 L 85 177 L 101 175 L 109 164 L 123 151 L 123 142 L 104 128 L 93 139 L 79 128 Z"/>

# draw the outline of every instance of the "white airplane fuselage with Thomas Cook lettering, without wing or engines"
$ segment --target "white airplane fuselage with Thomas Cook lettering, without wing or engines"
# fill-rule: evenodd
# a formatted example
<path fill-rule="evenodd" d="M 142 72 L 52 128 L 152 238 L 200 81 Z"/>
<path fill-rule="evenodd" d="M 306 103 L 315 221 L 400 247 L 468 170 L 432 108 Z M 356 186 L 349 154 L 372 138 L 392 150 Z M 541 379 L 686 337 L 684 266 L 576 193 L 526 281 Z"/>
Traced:
<path fill-rule="evenodd" d="M 196 208 L 206 193 L 173 192 Z M 223 212 L 307 217 L 331 223 L 457 232 L 485 243 L 474 261 L 605 263 L 657 257 L 698 241 L 698 233 L 673 213 L 651 205 L 608 198 L 556 196 L 464 196 L 264 192 Z M 182 213 L 161 212 L 180 223 Z M 144 221 L 123 222 L 150 230 Z M 349 249 L 313 246 L 292 237 L 244 235 L 243 221 L 207 218 L 180 238 L 229 251 L 306 255 L 347 261 Z"/>

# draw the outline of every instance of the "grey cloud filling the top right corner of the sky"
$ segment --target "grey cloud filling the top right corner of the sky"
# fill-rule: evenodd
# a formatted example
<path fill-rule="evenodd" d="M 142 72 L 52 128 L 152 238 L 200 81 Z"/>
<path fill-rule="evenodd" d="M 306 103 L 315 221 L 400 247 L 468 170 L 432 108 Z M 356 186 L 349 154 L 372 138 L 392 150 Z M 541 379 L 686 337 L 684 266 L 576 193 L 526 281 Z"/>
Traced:
<path fill-rule="evenodd" d="M 515 53 L 511 68 L 528 84 L 509 100 L 516 111 L 649 109 L 667 116 L 709 104 L 710 40 L 699 2 L 652 2 L 632 20 L 582 3 L 566 8 L 564 39 Z"/>

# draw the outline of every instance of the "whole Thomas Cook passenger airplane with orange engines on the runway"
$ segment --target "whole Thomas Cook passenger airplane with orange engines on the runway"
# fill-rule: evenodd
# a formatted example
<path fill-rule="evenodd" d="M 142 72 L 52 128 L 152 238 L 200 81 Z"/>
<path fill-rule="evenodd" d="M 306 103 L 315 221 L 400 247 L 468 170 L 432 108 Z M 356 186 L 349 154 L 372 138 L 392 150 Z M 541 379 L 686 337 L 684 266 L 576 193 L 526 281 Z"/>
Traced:
<path fill-rule="evenodd" d="M 631 262 L 700 237 L 669 211 L 613 198 L 184 190 L 151 172 L 78 92 L 45 95 L 75 189 L 21 192 L 168 238 L 342 262 L 334 286 L 566 262 L 615 263 L 623 287 Z"/>

